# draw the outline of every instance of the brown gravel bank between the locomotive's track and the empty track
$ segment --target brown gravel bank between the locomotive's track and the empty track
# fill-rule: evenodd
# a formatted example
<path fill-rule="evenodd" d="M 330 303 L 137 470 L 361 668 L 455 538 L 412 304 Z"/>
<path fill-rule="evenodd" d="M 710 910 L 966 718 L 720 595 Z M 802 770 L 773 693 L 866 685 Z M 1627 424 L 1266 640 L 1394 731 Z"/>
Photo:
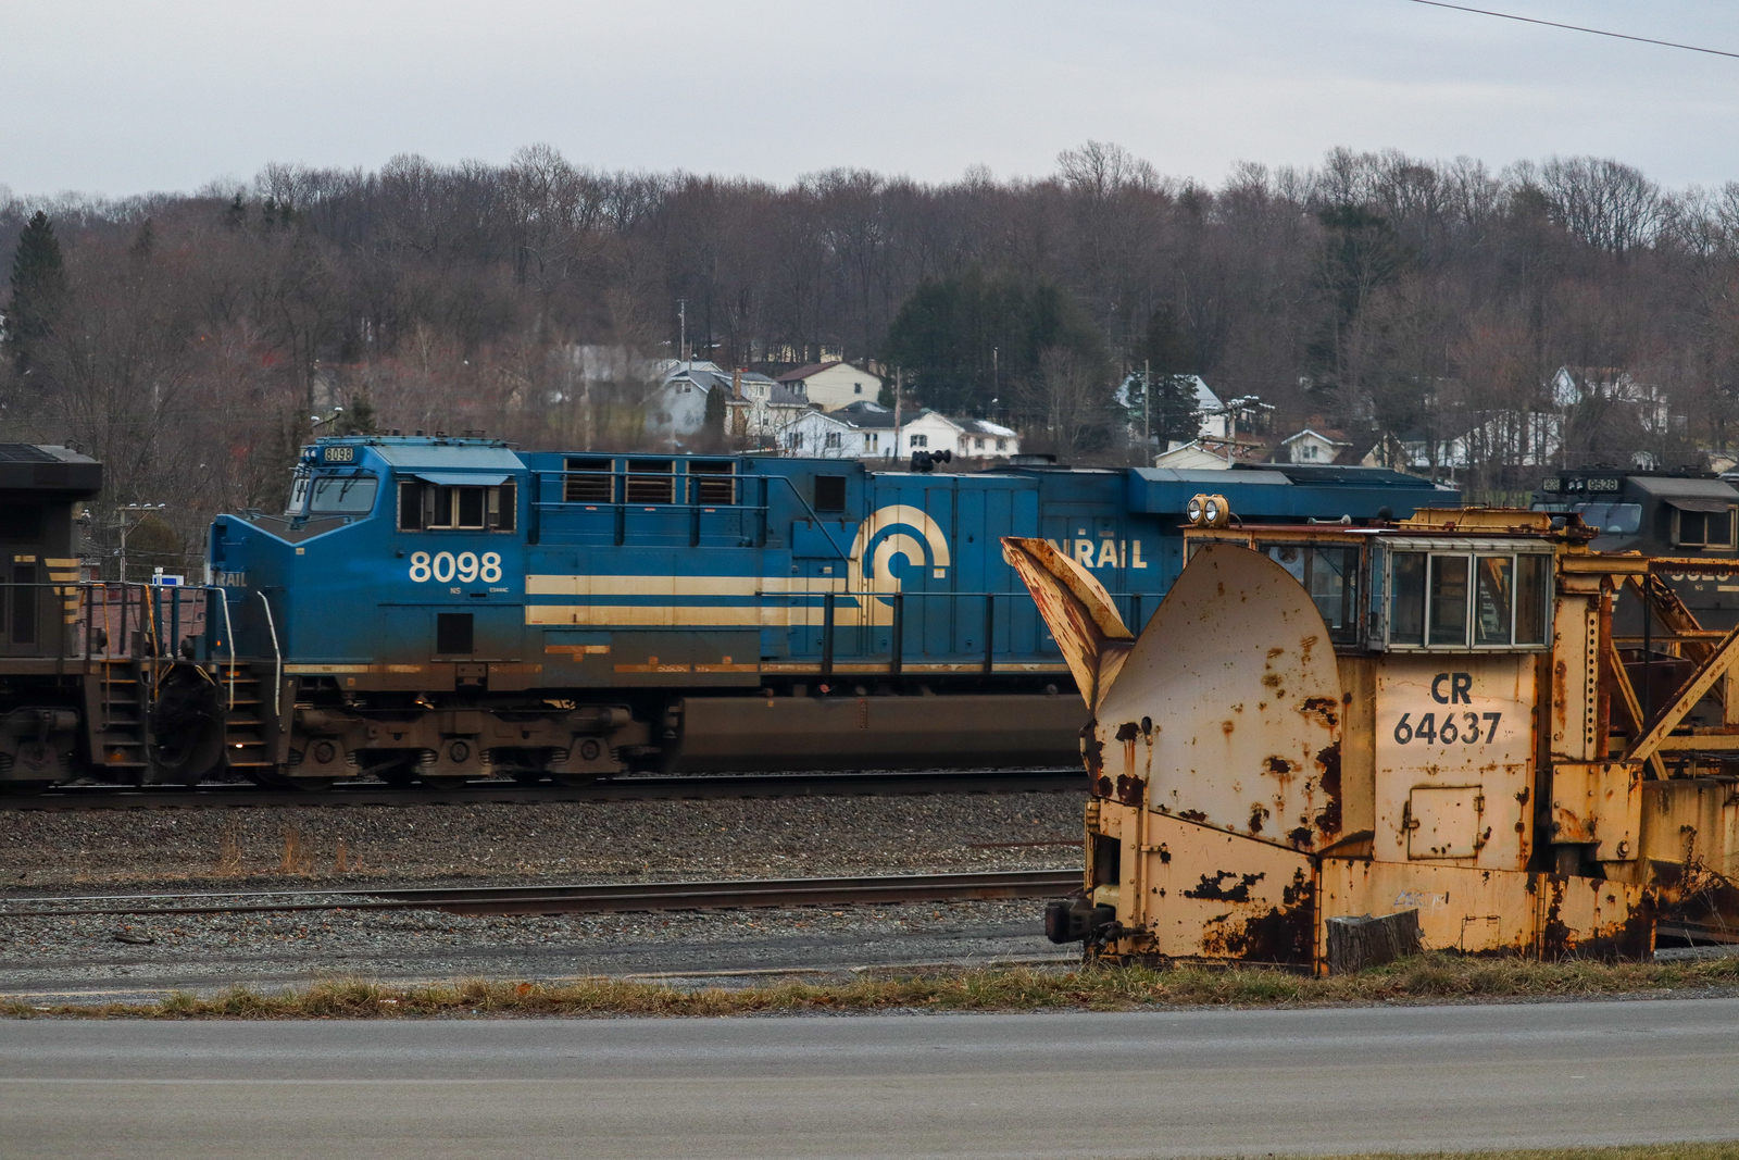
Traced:
<path fill-rule="evenodd" d="M 1078 793 L 0 814 L 0 896 L 1078 864 Z M 1003 845 L 1017 842 L 1068 845 Z M 339 870 L 343 866 L 343 870 Z"/>

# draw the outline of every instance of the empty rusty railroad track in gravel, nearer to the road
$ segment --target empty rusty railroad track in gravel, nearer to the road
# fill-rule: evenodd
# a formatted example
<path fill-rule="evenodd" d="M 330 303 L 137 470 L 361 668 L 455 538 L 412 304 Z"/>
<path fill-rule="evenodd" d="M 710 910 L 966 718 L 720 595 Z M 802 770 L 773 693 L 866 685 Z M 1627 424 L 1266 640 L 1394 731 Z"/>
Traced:
<path fill-rule="evenodd" d="M 864 878 L 744 878 L 727 882 L 609 882 L 414 890 L 254 890 L 237 894 L 106 894 L 7 899 L 0 920 L 85 915 L 237 915 L 313 910 L 438 910 L 449 915 L 588 915 L 659 910 L 744 910 L 1057 897 L 1082 885 L 1080 870 L 993 870 Z M 320 901 L 308 901 L 320 899 Z"/>

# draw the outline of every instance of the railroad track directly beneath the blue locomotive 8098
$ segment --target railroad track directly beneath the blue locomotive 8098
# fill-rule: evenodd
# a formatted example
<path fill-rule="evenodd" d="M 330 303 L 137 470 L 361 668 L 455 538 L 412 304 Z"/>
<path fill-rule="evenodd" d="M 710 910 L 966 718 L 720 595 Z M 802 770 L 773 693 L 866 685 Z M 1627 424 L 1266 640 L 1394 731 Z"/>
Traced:
<path fill-rule="evenodd" d="M 790 798 L 916 793 L 1054 793 L 1085 788 L 1080 769 L 967 769 L 856 774 L 635 776 L 593 786 L 522 786 L 476 781 L 450 790 L 395 790 L 377 781 L 339 783 L 327 791 L 254 784 L 63 786 L 3 795 L 3 810 L 190 809 L 207 805 L 468 805 L 476 802 L 643 802 L 670 798 Z"/>

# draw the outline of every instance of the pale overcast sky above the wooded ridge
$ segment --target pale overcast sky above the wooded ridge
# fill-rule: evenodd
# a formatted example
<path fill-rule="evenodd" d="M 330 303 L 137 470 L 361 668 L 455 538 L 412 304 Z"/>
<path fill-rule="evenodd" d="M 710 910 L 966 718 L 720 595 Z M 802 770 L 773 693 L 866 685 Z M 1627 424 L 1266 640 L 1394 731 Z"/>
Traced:
<path fill-rule="evenodd" d="M 1730 0 L 1473 0 L 1739 52 Z M 0 184 L 120 197 L 264 162 L 958 177 L 1115 141 L 1217 183 L 1344 144 L 1739 179 L 1739 59 L 1410 0 L 5 0 Z"/>

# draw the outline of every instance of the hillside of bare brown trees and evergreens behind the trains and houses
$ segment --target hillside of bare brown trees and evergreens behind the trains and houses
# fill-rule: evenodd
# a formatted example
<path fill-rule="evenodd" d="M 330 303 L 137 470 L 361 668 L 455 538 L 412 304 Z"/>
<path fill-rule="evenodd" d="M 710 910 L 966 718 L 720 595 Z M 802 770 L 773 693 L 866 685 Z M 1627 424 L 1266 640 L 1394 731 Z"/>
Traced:
<path fill-rule="evenodd" d="M 678 299 L 699 357 L 882 360 L 915 402 L 1101 459 L 1134 454 L 1108 407 L 1143 360 L 1278 426 L 1363 433 L 1546 405 L 1562 365 L 1664 393 L 1661 430 L 1574 416 L 1581 461 L 1725 445 L 1739 388 L 1739 184 L 1591 158 L 1336 151 L 1207 188 L 1089 143 L 1038 179 L 774 186 L 534 146 L 122 202 L 0 191 L 0 254 L 3 437 L 77 443 L 106 499 L 172 503 L 190 532 L 275 503 L 332 403 L 337 424 L 635 445 Z"/>

